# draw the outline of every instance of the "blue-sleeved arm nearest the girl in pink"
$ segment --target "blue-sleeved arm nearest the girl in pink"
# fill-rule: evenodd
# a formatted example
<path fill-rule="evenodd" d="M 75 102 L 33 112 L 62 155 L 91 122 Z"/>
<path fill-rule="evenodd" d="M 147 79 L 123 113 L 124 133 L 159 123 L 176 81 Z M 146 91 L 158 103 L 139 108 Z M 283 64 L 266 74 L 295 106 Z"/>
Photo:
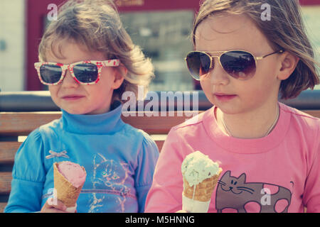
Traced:
<path fill-rule="evenodd" d="M 159 157 L 156 143 L 146 135 L 142 142 L 142 150 L 138 156 L 137 170 L 135 171 L 135 187 L 137 191 L 139 212 L 144 212 L 146 194 L 148 194 L 154 175 L 154 167 Z"/>

